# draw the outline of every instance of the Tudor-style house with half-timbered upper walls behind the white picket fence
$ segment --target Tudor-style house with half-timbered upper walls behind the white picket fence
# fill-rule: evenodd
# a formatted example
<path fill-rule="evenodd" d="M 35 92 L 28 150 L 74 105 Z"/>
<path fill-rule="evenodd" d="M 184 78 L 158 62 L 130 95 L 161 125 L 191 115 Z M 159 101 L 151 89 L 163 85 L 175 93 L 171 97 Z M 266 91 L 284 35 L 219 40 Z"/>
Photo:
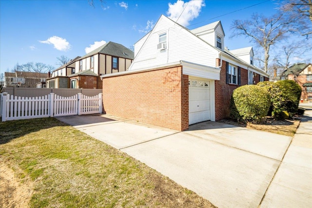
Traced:
<path fill-rule="evenodd" d="M 110 41 L 54 70 L 47 88 L 101 89 L 100 75 L 126 71 L 133 59 L 133 51 Z"/>

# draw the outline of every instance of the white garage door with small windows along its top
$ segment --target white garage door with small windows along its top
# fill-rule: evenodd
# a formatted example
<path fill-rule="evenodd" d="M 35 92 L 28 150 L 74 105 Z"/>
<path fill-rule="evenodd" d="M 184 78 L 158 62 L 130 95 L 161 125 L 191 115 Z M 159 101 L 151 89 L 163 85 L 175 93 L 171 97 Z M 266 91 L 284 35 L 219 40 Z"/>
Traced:
<path fill-rule="evenodd" d="M 189 125 L 210 120 L 209 81 L 189 79 Z"/>

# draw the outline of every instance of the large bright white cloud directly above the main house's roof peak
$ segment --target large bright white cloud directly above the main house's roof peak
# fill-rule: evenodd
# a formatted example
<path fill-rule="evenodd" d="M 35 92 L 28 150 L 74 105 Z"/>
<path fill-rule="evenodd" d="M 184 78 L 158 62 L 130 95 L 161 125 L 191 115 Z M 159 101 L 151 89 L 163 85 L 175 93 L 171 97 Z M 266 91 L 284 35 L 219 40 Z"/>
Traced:
<path fill-rule="evenodd" d="M 188 26 L 190 21 L 199 16 L 201 8 L 205 6 L 205 2 L 204 0 L 190 0 L 189 2 L 177 0 L 174 4 L 168 3 L 168 6 L 168 17 L 174 21 L 177 20 L 177 23 L 183 26 Z"/>

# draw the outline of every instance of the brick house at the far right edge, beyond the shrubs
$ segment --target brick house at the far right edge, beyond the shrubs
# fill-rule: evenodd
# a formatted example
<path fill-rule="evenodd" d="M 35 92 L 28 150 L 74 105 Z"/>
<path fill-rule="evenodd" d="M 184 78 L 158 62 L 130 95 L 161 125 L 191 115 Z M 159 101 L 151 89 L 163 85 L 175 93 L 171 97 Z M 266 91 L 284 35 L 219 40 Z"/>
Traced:
<path fill-rule="evenodd" d="M 294 80 L 301 87 L 301 98 L 303 100 L 312 100 L 312 64 L 295 63 L 287 70 L 282 72 L 280 78 Z"/>

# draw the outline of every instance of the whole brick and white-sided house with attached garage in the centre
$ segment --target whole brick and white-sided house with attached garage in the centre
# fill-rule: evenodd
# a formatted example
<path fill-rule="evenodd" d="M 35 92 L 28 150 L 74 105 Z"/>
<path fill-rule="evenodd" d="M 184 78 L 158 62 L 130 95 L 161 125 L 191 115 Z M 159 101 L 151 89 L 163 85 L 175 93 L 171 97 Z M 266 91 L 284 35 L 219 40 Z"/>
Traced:
<path fill-rule="evenodd" d="M 233 90 L 269 75 L 251 47 L 228 50 L 224 36 L 220 21 L 188 30 L 162 15 L 129 70 L 101 76 L 104 112 L 178 131 L 229 116 Z"/>

